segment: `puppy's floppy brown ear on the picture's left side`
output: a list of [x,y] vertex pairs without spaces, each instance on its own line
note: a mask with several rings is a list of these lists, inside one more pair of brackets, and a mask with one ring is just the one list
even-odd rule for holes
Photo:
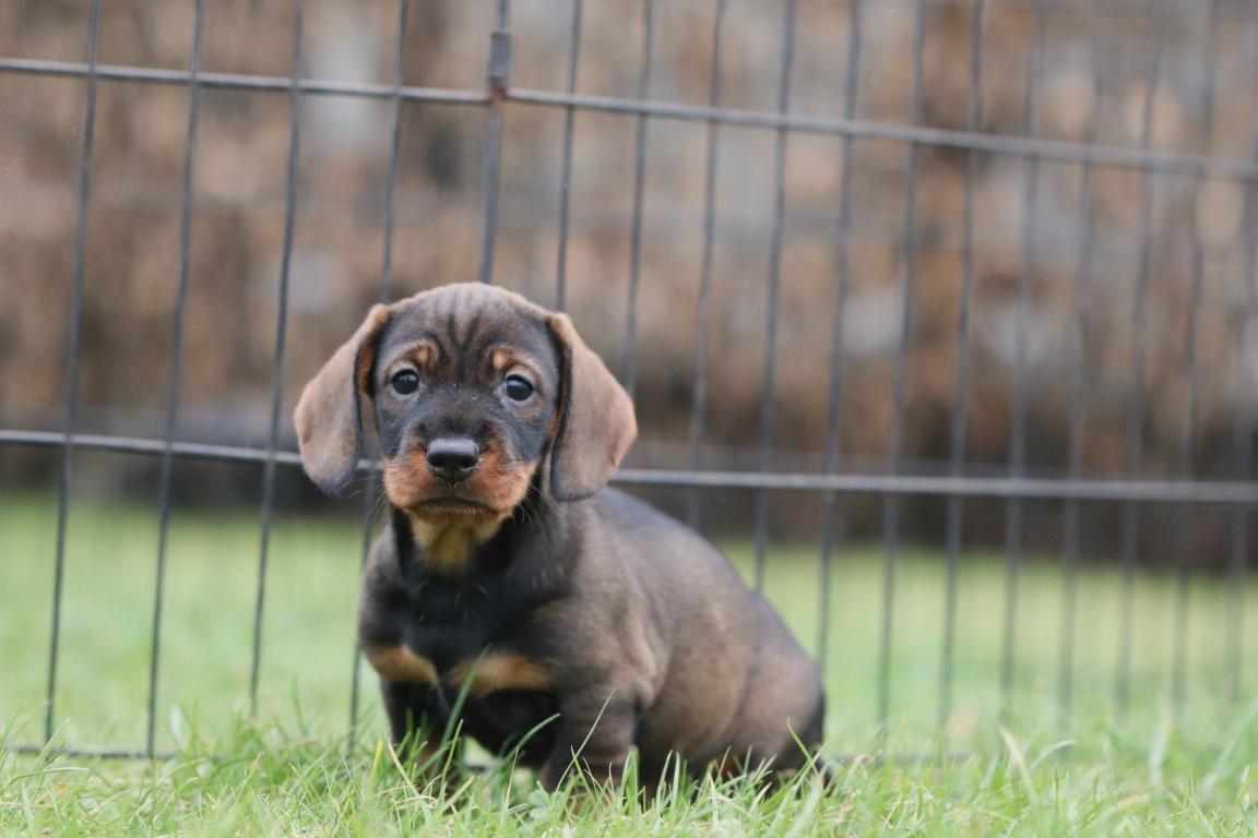
[[[297,402],[293,425],[302,466],[311,480],[330,495],[345,487],[359,465],[362,447],[362,405],[367,400],[367,376],[389,308],[372,305],[353,337],[341,344],[318,371]],[[374,420],[370,420],[374,423]]]

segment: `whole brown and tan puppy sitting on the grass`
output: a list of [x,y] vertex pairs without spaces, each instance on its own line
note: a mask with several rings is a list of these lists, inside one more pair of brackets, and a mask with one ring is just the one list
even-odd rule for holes
[[330,492],[380,437],[392,520],[359,638],[395,740],[458,712],[547,788],[574,764],[614,779],[633,749],[649,780],[669,754],[780,771],[818,746],[821,683],[777,614],[702,538],[604,489],[633,405],[566,315],[473,284],[377,305],[296,425]]

